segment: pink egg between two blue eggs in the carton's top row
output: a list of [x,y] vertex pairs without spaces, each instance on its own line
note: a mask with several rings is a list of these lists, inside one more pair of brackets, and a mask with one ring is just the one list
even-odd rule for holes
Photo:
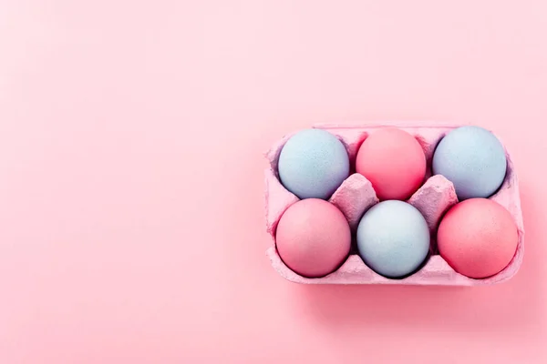
[[426,156],[414,136],[385,127],[368,136],[359,148],[356,171],[372,183],[381,200],[405,200],[426,176]]

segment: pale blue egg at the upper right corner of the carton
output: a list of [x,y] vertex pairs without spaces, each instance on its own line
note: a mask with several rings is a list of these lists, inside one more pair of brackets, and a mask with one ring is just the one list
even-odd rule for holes
[[500,140],[479,126],[449,132],[433,155],[433,174],[454,184],[459,200],[490,197],[501,187],[507,170]]

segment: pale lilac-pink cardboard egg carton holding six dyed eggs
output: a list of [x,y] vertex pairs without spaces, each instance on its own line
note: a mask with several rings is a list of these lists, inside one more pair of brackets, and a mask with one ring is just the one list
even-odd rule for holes
[[[350,158],[351,166],[355,166],[356,154],[366,136],[374,129],[387,125],[377,126],[329,126],[318,125],[315,128],[325,129],[337,136]],[[397,126],[399,127],[399,126]],[[283,187],[277,174],[277,161],[284,143],[293,134],[284,136],[276,142],[265,154],[270,167],[265,170],[265,213],[266,227],[270,235],[272,246],[267,249],[266,255],[270,258],[274,269],[283,277],[296,283],[305,284],[396,284],[396,285],[441,285],[441,286],[480,286],[501,283],[513,277],[521,267],[524,253],[524,227],[522,222],[521,198],[519,183],[513,167],[511,156],[505,149],[507,156],[507,174],[500,190],[490,199],[507,208],[514,218],[518,231],[519,242],[511,263],[500,273],[490,278],[467,278],[457,273],[449,266],[445,259],[439,256],[435,243],[435,235],[439,221],[444,213],[456,203],[456,191],[452,183],[442,176],[431,176],[431,158],[440,139],[450,130],[458,126],[405,126],[399,127],[418,139],[428,160],[428,174],[426,182],[408,199],[408,203],[417,207],[428,222],[431,232],[430,254],[426,263],[413,275],[403,279],[390,279],[378,275],[371,268],[366,267],[363,260],[356,255],[352,248],[350,256],[335,272],[324,278],[304,278],[285,266],[275,248],[275,228],[285,209],[299,200]],[[355,172],[355,171],[353,171]],[[329,199],[346,216],[352,231],[355,233],[360,217],[366,210],[378,202],[372,184],[359,174],[353,173],[338,187]],[[355,236],[355,234],[354,234]],[[352,242],[355,246],[355,242]]]

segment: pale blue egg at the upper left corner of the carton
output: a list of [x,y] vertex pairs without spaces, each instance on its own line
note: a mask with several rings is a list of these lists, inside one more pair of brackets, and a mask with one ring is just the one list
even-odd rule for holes
[[306,129],[287,140],[278,169],[283,186],[297,197],[327,199],[349,176],[349,157],[336,136]]

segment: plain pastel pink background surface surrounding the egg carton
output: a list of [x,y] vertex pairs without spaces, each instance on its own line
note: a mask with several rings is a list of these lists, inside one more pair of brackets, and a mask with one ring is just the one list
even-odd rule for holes
[[[547,5],[0,0],[0,362],[544,363]],[[489,127],[526,253],[490,288],[270,267],[261,153],[317,122]]]

